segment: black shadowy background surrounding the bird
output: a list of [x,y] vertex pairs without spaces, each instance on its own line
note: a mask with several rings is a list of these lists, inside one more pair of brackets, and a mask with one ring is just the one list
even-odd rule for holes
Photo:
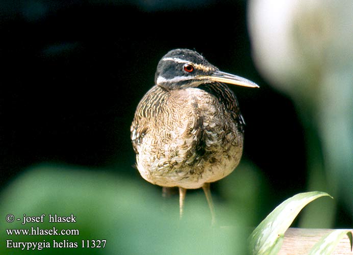
[[120,169],[144,182],[133,168],[130,124],[154,85],[159,59],[182,47],[260,85],[232,87],[247,124],[243,158],[261,169],[268,184],[259,218],[305,191],[302,126],[291,100],[254,67],[246,2],[1,4],[2,189],[41,162]]

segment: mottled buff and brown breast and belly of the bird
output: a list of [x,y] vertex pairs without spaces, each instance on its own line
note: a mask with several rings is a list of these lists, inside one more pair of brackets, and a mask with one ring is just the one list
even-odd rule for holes
[[170,91],[138,147],[137,167],[149,182],[199,188],[239,163],[243,136],[219,98],[198,88]]

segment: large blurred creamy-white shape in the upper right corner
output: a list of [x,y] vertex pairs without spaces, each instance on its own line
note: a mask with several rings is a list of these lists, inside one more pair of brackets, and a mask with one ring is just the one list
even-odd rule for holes
[[284,92],[308,93],[320,71],[352,63],[350,1],[252,0],[248,19],[257,67]]

